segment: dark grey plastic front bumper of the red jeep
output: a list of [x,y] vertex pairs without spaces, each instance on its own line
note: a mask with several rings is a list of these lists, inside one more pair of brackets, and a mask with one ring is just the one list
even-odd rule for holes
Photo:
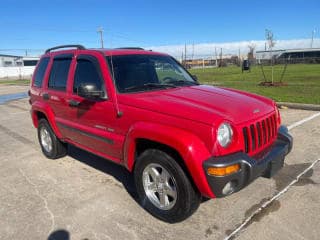
[[[222,157],[211,157],[204,161],[203,168],[207,181],[216,197],[224,197],[237,192],[256,178],[270,178],[283,167],[284,157],[291,151],[292,136],[285,126],[278,131],[277,140],[259,156],[249,157],[243,152],[237,152]],[[209,167],[227,167],[239,164],[240,170],[226,176],[211,176],[207,174]]]

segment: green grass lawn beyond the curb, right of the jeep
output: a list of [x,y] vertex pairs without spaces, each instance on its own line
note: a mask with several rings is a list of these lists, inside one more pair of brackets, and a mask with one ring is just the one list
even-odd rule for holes
[[[274,67],[274,81],[279,81],[283,65]],[[268,81],[271,81],[271,67],[264,67]],[[320,104],[320,65],[291,64],[283,77],[287,86],[266,87],[258,84],[264,81],[261,68],[253,66],[251,72],[241,72],[240,67],[190,69],[203,84],[241,89],[267,96],[278,102]]]

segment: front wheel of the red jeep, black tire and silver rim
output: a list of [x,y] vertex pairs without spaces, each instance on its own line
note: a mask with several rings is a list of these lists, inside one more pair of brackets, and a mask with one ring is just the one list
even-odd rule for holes
[[199,207],[199,192],[176,160],[163,151],[144,151],[137,159],[134,180],[141,206],[165,222],[183,221]]

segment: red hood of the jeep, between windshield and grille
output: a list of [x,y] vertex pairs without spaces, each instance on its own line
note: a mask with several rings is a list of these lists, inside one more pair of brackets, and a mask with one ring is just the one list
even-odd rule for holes
[[206,124],[221,119],[240,124],[274,111],[268,98],[207,85],[122,94],[119,103]]

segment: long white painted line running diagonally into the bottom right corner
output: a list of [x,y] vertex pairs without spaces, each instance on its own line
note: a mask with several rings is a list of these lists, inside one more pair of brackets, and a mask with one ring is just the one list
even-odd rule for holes
[[[268,208],[274,208],[277,207],[278,199],[285,194],[293,185],[295,185],[301,177],[303,177],[305,174],[307,174],[318,162],[320,162],[320,159],[315,160],[313,163],[309,165],[304,171],[302,171],[292,182],[290,182],[284,189],[282,189],[280,192],[278,192],[276,195],[274,195],[272,198],[270,198],[268,201],[265,201],[261,204],[261,206],[255,210],[250,216],[248,216],[240,226],[238,226],[233,231],[228,231],[228,236],[224,240],[230,240],[237,237],[241,231],[243,231],[247,226],[249,226],[252,222],[257,221],[262,215],[265,215],[268,213]],[[271,210],[272,211],[272,210]],[[269,211],[269,212],[271,212]]]

